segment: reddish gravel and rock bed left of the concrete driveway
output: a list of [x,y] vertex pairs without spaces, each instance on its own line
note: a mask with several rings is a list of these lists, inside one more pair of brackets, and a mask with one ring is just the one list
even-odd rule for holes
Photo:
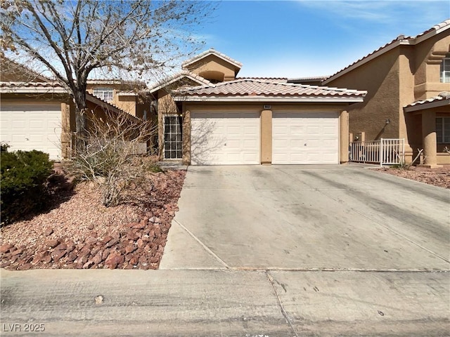
[[186,171],[148,173],[119,206],[94,183],[56,189],[52,209],[1,229],[1,267],[157,269]]

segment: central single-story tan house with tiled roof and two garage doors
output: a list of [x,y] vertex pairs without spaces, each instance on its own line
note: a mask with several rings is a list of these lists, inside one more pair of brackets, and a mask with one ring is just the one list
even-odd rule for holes
[[186,164],[348,161],[349,106],[365,91],[236,78],[242,64],[214,49],[150,88],[161,159]]

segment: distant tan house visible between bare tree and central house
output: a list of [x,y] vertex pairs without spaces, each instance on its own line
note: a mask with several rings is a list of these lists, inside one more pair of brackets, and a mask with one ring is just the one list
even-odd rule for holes
[[146,84],[120,79],[89,79],[86,91],[140,119],[150,119],[150,100],[142,93]]

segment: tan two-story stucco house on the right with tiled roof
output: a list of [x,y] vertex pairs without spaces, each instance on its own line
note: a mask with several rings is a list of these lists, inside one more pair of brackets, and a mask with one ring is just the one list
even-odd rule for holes
[[368,92],[349,107],[352,140],[404,138],[406,161],[450,164],[450,20],[399,36],[322,82]]

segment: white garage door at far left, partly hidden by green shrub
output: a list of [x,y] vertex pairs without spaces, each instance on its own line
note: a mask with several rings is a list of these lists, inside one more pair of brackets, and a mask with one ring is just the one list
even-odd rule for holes
[[8,104],[0,107],[0,140],[10,150],[40,150],[60,159],[61,105]]

